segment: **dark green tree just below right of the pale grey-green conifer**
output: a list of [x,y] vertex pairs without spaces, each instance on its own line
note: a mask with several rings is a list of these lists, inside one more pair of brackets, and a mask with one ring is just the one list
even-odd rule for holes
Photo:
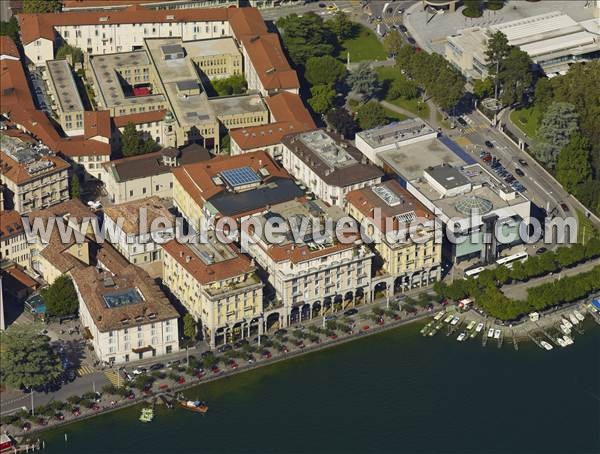
[[591,176],[590,144],[580,133],[575,133],[558,155],[556,179],[565,190],[575,193],[578,186],[589,180]]

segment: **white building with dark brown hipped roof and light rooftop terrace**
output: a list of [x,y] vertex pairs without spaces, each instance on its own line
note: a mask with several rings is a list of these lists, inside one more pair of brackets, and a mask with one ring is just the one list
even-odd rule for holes
[[282,144],[285,169],[330,205],[342,207],[348,192],[381,182],[383,172],[332,132],[292,134]]

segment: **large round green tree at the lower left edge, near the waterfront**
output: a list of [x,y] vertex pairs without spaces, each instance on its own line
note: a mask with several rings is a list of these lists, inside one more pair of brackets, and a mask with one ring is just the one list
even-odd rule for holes
[[11,325],[0,332],[0,381],[15,388],[55,382],[63,373],[50,339],[37,325]]

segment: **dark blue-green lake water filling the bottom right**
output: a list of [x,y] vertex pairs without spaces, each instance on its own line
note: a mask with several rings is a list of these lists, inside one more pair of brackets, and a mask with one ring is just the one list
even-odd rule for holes
[[44,434],[46,452],[600,452],[598,326],[552,352],[421,326],[188,391],[206,416],[159,408],[145,425],[135,407]]

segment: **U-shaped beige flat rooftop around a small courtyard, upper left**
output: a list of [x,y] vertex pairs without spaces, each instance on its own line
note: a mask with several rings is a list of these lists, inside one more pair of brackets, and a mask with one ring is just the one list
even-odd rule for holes
[[125,96],[123,87],[119,81],[118,72],[125,67],[150,66],[150,59],[145,50],[134,52],[123,52],[118,54],[104,54],[90,56],[90,64],[98,81],[98,91],[104,104],[108,108],[123,105],[142,105],[146,103],[165,103],[162,94],[151,94],[148,96]]

